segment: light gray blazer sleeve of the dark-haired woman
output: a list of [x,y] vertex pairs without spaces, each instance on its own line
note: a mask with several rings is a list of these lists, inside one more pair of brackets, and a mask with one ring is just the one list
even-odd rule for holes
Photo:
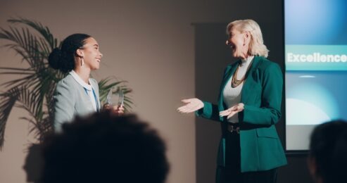
[[61,80],[56,86],[54,98],[54,131],[61,132],[63,122],[70,122],[74,117],[75,96],[72,92],[72,84]]

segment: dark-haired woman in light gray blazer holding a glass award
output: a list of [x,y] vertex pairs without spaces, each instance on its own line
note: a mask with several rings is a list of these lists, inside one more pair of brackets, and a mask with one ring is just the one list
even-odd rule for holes
[[[69,72],[59,81],[54,94],[54,130],[61,131],[63,122],[70,122],[76,115],[100,111],[99,86],[89,78],[92,70],[100,67],[102,53],[96,40],[87,34],[66,37],[61,49],[53,49],[49,55],[51,68]],[[123,113],[122,106],[113,109]]]

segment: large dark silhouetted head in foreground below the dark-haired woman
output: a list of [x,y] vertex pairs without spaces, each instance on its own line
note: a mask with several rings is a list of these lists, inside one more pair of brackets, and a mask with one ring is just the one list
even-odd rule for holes
[[42,181],[165,182],[165,144],[135,115],[95,113],[65,123],[44,142]]

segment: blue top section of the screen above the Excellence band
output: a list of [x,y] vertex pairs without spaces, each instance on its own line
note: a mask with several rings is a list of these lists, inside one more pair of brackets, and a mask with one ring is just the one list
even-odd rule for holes
[[287,0],[286,44],[347,44],[346,0]]

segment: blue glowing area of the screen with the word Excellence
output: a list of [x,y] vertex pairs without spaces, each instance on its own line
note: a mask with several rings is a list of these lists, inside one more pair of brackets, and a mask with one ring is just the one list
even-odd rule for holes
[[284,21],[286,125],[347,120],[347,0],[285,0]]

